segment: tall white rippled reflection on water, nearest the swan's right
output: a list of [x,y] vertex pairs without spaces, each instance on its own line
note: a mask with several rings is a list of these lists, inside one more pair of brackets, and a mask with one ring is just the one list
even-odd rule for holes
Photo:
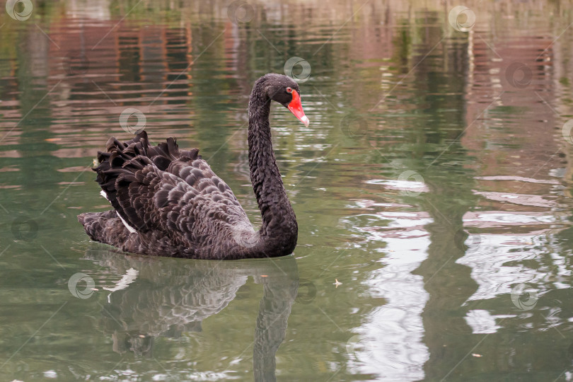
[[371,311],[364,323],[354,329],[364,348],[354,349],[356,357],[350,359],[349,368],[384,376],[384,381],[417,381],[424,378],[424,363],[429,359],[422,341],[421,317],[429,294],[422,276],[412,271],[427,258],[430,241],[423,227],[432,219],[411,212],[368,216],[384,221],[386,226],[373,224],[355,229],[369,243],[384,242],[386,248],[379,249],[385,253],[380,260],[383,267],[372,272],[365,284],[372,296],[385,299],[386,303]]

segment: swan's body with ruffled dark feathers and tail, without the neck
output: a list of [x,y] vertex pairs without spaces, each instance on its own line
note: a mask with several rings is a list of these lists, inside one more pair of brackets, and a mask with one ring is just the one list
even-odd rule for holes
[[[98,152],[97,182],[113,211],[79,215],[93,240],[134,253],[240,258],[236,238],[254,234],[231,188],[173,138],[157,146],[146,132]],[[248,249],[248,248],[246,248]]]

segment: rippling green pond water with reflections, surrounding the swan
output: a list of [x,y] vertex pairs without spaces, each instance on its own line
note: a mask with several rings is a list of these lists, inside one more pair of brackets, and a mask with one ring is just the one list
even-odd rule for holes
[[[440,1],[5,4],[2,381],[573,379],[569,1],[470,1],[468,31]],[[248,94],[291,57],[311,125],[271,124],[293,256],[88,240],[76,215],[109,208],[89,168],[132,137],[126,108],[199,147],[258,224]]]

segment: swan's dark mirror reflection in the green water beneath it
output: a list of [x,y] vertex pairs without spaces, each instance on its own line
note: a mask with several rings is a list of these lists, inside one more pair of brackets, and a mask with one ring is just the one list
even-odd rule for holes
[[[284,340],[296,299],[299,272],[293,256],[265,260],[180,260],[91,249],[86,259],[117,275],[103,304],[102,325],[113,351],[153,357],[156,337],[201,331],[204,319],[222,311],[252,276],[263,285],[255,326],[256,381],[274,381],[274,355]],[[100,272],[101,273],[101,272]],[[245,344],[245,346],[248,344]],[[238,355],[238,354],[237,354]]]

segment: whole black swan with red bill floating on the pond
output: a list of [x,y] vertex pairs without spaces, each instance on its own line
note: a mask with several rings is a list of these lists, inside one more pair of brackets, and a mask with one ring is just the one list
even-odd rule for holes
[[126,252],[236,260],[289,255],[298,226],[272,150],[270,101],[289,108],[308,126],[299,85],[266,74],[250,94],[250,180],[262,226],[255,231],[231,188],[209,168],[198,149],[179,150],[175,139],[151,146],[146,132],[131,141],[114,137],[98,151],[97,182],[114,208],[78,220],[94,241]]

